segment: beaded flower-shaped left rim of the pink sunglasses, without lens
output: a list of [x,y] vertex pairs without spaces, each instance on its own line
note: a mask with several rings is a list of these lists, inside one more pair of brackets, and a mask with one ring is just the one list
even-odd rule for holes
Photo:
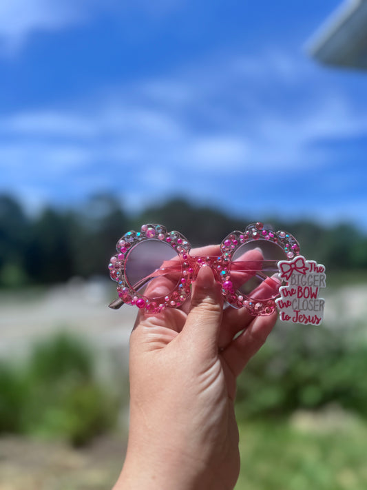
[[[174,291],[162,298],[146,298],[136,292],[132,285],[129,284],[126,274],[125,265],[129,252],[142,241],[158,240],[167,243],[180,258],[181,278]],[[161,312],[165,307],[179,307],[185,302],[190,294],[192,268],[189,265],[190,244],[185,236],[179,232],[167,232],[162,225],[143,225],[140,232],[128,232],[120,238],[116,245],[117,254],[112,256],[109,261],[109,275],[117,283],[118,296],[128,305],[136,305],[140,309],[151,314]]]

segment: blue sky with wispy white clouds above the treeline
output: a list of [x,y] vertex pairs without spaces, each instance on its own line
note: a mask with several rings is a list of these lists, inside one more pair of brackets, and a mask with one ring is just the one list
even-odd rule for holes
[[367,230],[367,72],[305,50],[339,5],[2,0],[0,192]]

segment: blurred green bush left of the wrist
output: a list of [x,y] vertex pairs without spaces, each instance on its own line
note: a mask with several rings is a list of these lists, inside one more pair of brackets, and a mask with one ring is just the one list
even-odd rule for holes
[[121,404],[112,385],[98,378],[85,340],[65,333],[35,345],[22,363],[3,360],[0,394],[0,433],[76,447],[116,427]]

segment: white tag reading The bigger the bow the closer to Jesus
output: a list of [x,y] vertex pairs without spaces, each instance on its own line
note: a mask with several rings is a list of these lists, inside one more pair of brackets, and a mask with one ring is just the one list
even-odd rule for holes
[[280,319],[304,325],[322,323],[325,300],[319,298],[319,289],[326,287],[324,265],[298,255],[293,261],[280,261],[278,269],[280,278],[287,281],[275,300]]

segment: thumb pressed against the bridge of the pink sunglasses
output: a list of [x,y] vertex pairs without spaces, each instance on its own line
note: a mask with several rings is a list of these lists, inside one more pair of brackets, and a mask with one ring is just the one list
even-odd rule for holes
[[183,336],[200,349],[218,352],[218,336],[222,323],[223,298],[220,285],[207,265],[201,267],[193,283],[191,311],[187,316]]

